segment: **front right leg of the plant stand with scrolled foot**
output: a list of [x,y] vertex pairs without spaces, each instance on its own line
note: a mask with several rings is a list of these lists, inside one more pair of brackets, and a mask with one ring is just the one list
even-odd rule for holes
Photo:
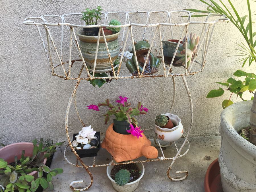
[[187,136],[185,137],[185,140],[183,142],[183,144],[181,145],[179,151],[177,152],[176,156],[174,157],[171,165],[169,166],[168,170],[167,170],[167,176],[169,177],[169,179],[171,179],[172,181],[181,181],[183,179],[185,179],[187,176],[188,176],[188,172],[187,171],[176,171],[175,173],[176,174],[180,174],[180,173],[186,173],[186,175],[184,177],[181,177],[181,178],[172,178],[170,176],[170,170],[172,169],[172,166],[176,160],[176,158],[179,156],[182,148],[184,147],[185,143],[188,142],[188,138],[189,138],[189,134],[191,132],[191,128],[192,128],[192,124],[193,124],[193,103],[192,103],[192,99],[191,99],[191,94],[190,94],[190,91],[189,91],[189,88],[188,88],[188,85],[187,85],[187,81],[185,79],[185,76],[181,76],[182,77],[182,80],[183,80],[183,83],[184,83],[184,86],[187,90],[187,95],[188,95],[188,98],[189,98],[189,104],[190,104],[190,114],[191,114],[191,121],[190,121],[190,125],[189,125],[189,129],[188,129],[188,132],[187,132]]

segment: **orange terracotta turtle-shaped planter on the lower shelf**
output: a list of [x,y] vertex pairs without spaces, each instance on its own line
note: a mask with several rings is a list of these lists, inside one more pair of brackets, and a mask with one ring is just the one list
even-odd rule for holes
[[101,146],[105,148],[113,156],[114,160],[119,163],[129,161],[145,156],[148,159],[158,157],[158,151],[151,146],[151,141],[143,137],[139,139],[133,135],[122,135],[113,130],[113,123],[106,131],[105,139]]

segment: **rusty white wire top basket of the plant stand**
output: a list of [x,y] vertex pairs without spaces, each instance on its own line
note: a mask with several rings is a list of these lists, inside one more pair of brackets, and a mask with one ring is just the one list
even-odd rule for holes
[[[205,17],[193,17],[196,13],[189,11],[134,11],[134,12],[109,12],[104,13],[102,24],[88,26],[82,23],[79,18],[81,13],[70,13],[64,15],[42,15],[38,17],[25,18],[23,24],[36,26],[42,41],[44,52],[53,76],[63,79],[73,80],[93,80],[93,79],[121,79],[121,78],[142,78],[142,77],[175,77],[194,75],[203,71],[213,36],[214,27],[218,22],[229,21],[224,15],[209,14]],[[118,18],[121,21],[119,26],[108,25],[110,18]],[[202,20],[203,19],[203,20]],[[80,22],[80,23],[79,23]],[[76,24],[73,24],[76,23]],[[94,36],[96,50],[93,65],[86,64],[86,58],[83,57],[81,47],[78,41],[78,33],[82,28],[98,27],[98,36]],[[120,61],[114,61],[110,54],[104,27],[119,28],[119,58]],[[42,30],[41,29],[45,29]],[[163,32],[162,32],[163,31]],[[197,32],[200,36],[199,44],[193,55],[189,67],[187,66],[187,36],[191,32]],[[100,34],[102,34],[100,36]],[[135,52],[135,37],[142,40],[148,38],[150,47],[144,63],[139,63]],[[179,44],[185,37],[185,66],[181,68],[173,67],[174,59]],[[141,38],[141,39],[140,39]],[[177,40],[177,47],[171,62],[166,64],[163,42],[169,39]],[[47,44],[45,43],[47,42]],[[106,55],[109,59],[109,69],[97,69],[97,53],[99,44],[105,44]],[[128,69],[123,66],[125,54],[129,47],[133,48],[135,55],[135,64],[138,69],[137,75],[129,73]],[[53,51],[52,51],[53,49]],[[75,50],[75,51],[73,51]],[[153,53],[155,57],[160,58],[161,64],[158,72],[154,74],[145,74],[146,63],[149,54]],[[196,60],[197,59],[197,60]],[[139,65],[143,67],[139,71]],[[84,70],[85,69],[85,70]],[[106,73],[106,77],[95,76],[95,73]]]

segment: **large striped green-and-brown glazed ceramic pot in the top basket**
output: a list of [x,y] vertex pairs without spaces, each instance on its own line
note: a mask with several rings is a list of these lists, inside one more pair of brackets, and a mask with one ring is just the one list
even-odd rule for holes
[[[119,33],[120,32],[105,36],[112,62],[114,62],[117,59],[117,56],[119,54],[119,43],[118,43]],[[84,61],[86,65],[92,67],[93,69],[98,36],[86,36],[84,35],[83,30],[80,30],[77,33],[77,35],[80,40],[79,46],[80,46],[82,55],[84,57]],[[95,69],[96,70],[111,69],[111,62],[108,57],[108,52],[107,52],[107,48],[106,48],[103,36],[100,36],[100,43],[98,48],[98,55],[97,55]]]

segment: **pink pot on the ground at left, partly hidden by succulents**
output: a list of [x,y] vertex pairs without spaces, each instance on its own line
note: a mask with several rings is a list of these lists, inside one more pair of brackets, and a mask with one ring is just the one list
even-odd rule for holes
[[[32,156],[33,154],[33,143],[13,143],[10,145],[7,145],[3,148],[0,148],[0,158],[4,159],[5,161],[9,163],[14,161],[14,156],[17,156],[18,159],[21,158],[21,152],[22,150],[25,150],[24,156]],[[44,158],[44,165],[46,164],[47,158]],[[34,177],[38,177],[37,171],[31,172],[29,175],[32,175]]]

